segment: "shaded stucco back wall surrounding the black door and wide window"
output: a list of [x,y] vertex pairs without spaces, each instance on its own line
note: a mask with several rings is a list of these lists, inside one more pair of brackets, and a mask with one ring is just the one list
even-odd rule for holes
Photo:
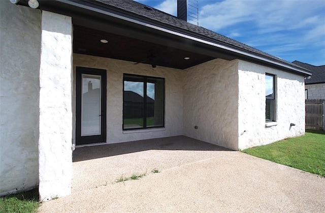
[[[150,138],[177,136],[183,134],[183,87],[182,71],[172,68],[125,62],[82,54],[74,54],[74,76],[76,67],[107,70],[107,143],[118,143]],[[123,73],[165,78],[165,129],[122,131]],[[76,83],[74,81],[74,88]],[[74,93],[74,140],[75,140],[75,100]],[[158,130],[158,131],[156,131]],[[130,133],[132,132],[132,133]]]

